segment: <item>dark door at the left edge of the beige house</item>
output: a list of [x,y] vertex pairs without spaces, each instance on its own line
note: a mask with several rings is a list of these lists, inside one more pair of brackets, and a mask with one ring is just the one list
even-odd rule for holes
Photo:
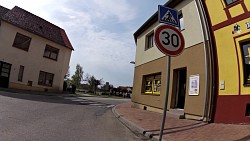
[[0,61],[0,87],[9,87],[11,64]]

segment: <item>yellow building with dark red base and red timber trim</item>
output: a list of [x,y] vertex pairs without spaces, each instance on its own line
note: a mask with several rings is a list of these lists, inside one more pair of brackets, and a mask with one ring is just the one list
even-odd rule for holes
[[214,121],[250,123],[250,1],[204,0],[217,66]]

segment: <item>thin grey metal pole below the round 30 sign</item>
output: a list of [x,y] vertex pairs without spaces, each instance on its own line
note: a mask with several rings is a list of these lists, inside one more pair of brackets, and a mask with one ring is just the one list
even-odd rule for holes
[[169,95],[169,81],[170,81],[170,63],[171,63],[171,56],[168,56],[168,65],[167,65],[167,82],[166,82],[166,97],[165,97],[165,104],[163,109],[163,115],[162,115],[162,124],[161,124],[161,130],[160,130],[160,138],[159,141],[162,140],[162,134],[164,130],[164,125],[166,121],[166,114],[167,114],[167,106],[168,106],[168,95]]

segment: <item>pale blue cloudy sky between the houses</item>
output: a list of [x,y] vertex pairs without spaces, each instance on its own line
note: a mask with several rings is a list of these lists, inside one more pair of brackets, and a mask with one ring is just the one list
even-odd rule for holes
[[132,86],[136,45],[134,32],[167,0],[0,0],[19,6],[63,28],[74,51],[70,74],[80,64],[84,76],[118,86]]

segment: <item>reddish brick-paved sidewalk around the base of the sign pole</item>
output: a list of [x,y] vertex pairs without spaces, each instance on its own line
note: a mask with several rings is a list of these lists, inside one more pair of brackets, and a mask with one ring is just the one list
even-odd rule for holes
[[[132,102],[113,108],[116,117],[132,130],[159,139],[162,114],[131,108]],[[250,124],[217,124],[167,116],[163,139],[167,141],[250,141]]]

